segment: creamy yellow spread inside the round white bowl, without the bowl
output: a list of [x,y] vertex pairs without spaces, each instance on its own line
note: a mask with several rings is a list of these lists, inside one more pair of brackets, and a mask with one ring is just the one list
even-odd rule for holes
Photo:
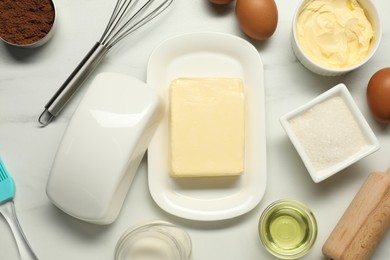
[[374,38],[372,25],[357,0],[311,0],[299,13],[296,29],[305,53],[333,68],[362,61]]

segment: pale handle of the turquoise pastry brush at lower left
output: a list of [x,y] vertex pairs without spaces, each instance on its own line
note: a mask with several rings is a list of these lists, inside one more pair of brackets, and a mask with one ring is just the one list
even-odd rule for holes
[[14,234],[14,238],[19,250],[20,259],[38,260],[38,257],[33,252],[19,224],[13,201],[10,200],[4,204],[1,204],[0,213],[3,214],[4,218],[7,220],[8,225],[12,230],[12,233]]

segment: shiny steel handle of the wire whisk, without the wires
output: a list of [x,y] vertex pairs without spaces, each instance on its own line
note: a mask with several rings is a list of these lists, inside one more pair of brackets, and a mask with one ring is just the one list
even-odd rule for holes
[[62,111],[91,72],[99,65],[107,52],[108,48],[103,46],[100,42],[97,42],[92,47],[76,69],[45,105],[45,110],[38,119],[41,126],[48,125]]

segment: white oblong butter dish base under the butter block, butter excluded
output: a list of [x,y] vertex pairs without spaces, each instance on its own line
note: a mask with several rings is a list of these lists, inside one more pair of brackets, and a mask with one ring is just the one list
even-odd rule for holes
[[169,109],[169,86],[179,77],[241,78],[245,85],[245,171],[240,177],[173,178],[169,174],[168,113],[148,148],[148,181],[155,202],[192,220],[233,218],[253,209],[266,188],[263,64],[247,41],[220,33],[192,33],[163,42],[152,53],[147,83]]

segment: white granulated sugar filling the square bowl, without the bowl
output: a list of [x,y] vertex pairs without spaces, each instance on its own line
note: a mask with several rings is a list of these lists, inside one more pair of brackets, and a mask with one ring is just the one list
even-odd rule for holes
[[368,145],[340,96],[313,106],[289,123],[317,171],[348,159]]

